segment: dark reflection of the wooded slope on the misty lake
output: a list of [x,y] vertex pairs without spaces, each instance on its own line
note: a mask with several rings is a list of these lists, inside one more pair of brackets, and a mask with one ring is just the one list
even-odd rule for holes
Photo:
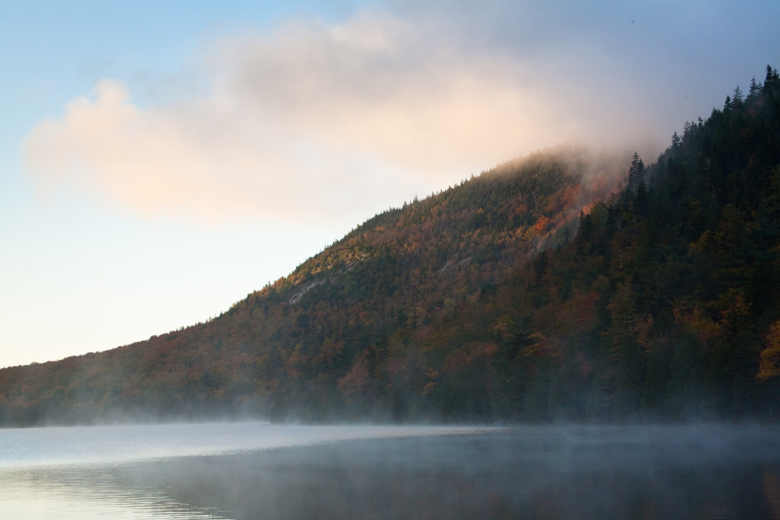
[[776,440],[677,433],[526,428],[29,473],[152,518],[780,518]]

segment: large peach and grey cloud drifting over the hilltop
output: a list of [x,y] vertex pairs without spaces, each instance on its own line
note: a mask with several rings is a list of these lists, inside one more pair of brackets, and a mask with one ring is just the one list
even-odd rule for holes
[[605,33],[564,9],[410,5],[215,42],[207,93],[180,101],[101,80],[35,126],[27,170],[147,216],[354,223],[519,154],[658,136],[655,100],[610,50],[630,13]]

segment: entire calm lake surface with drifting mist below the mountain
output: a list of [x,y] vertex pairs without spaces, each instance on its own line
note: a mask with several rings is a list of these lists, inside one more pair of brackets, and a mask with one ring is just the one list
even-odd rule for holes
[[780,518],[780,427],[0,430],[0,517]]

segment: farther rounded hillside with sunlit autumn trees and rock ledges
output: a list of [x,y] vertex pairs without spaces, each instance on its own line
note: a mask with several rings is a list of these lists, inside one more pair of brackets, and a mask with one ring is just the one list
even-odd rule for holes
[[443,328],[573,235],[580,208],[614,188],[614,168],[537,154],[378,214],[208,323],[0,370],[0,420],[427,414],[428,371],[485,339],[472,331],[442,348],[457,335]]

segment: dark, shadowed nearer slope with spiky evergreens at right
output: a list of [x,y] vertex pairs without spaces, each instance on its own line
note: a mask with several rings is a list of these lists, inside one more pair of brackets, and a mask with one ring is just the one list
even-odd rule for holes
[[777,418],[778,104],[768,67],[518,272],[496,344],[521,418]]

